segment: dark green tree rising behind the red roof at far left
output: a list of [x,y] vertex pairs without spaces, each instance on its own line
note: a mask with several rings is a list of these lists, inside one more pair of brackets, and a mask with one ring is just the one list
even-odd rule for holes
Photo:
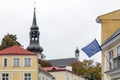
[[8,47],[13,46],[13,45],[19,45],[20,46],[21,44],[17,41],[16,35],[7,34],[2,39],[2,42],[1,42],[1,45],[0,45],[0,50],[8,48]]

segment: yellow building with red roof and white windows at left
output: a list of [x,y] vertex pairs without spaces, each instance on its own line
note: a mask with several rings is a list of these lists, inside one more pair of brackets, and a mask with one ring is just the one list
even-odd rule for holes
[[38,57],[20,46],[0,51],[0,80],[38,80]]

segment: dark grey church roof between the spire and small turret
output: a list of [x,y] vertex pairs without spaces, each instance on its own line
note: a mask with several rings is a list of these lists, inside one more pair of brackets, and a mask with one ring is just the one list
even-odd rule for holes
[[53,59],[48,61],[52,64],[52,66],[66,67],[78,60],[75,58],[64,58],[64,59]]

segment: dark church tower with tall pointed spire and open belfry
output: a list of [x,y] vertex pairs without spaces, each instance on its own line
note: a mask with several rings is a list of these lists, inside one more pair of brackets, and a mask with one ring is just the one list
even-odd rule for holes
[[45,56],[42,54],[43,48],[39,44],[39,27],[37,26],[37,21],[36,21],[36,8],[34,8],[34,13],[33,13],[33,23],[30,28],[30,44],[27,47],[27,50],[32,51],[38,55],[39,59],[44,59]]

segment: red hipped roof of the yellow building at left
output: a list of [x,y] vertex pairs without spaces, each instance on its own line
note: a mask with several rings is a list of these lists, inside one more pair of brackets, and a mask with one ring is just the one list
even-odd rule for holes
[[21,46],[14,45],[12,47],[0,51],[0,55],[36,55]]

